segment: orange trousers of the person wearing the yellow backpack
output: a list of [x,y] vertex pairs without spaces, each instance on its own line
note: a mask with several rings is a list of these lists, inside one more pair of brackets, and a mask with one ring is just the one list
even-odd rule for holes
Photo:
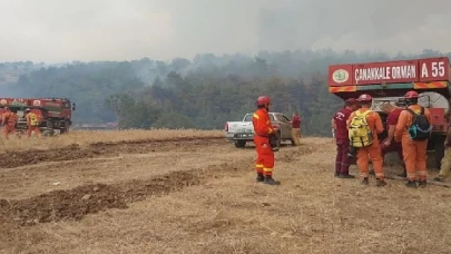
[[362,178],[369,177],[369,167],[370,167],[370,158],[373,163],[374,173],[376,178],[383,179],[384,172],[383,172],[383,159],[381,154],[381,147],[378,140],[374,140],[371,146],[361,147],[357,149],[357,167],[360,170],[360,175]]

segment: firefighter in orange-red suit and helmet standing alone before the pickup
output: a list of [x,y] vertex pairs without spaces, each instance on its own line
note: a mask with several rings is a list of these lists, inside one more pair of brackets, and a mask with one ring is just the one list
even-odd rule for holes
[[275,134],[269,119],[271,99],[267,96],[261,96],[257,99],[258,109],[252,117],[254,126],[254,143],[257,152],[255,168],[257,172],[257,182],[269,185],[280,185],[281,182],[273,179],[274,152],[269,145],[269,135]]

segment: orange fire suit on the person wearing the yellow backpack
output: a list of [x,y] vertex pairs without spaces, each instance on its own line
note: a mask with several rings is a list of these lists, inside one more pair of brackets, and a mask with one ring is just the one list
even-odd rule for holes
[[[366,110],[370,110],[367,107],[362,107],[357,109],[361,113],[364,113]],[[353,111],[347,119],[347,128],[350,127],[352,118],[355,116],[355,111]],[[371,144],[367,147],[359,147],[357,149],[357,167],[360,169],[360,175],[362,178],[369,177],[369,167],[370,167],[370,160],[369,158],[371,157],[371,162],[373,163],[374,167],[374,173],[378,179],[383,179],[384,178],[384,172],[383,172],[383,159],[382,159],[382,154],[381,154],[381,148],[379,144],[379,138],[378,134],[381,134],[384,130],[384,127],[382,125],[382,119],[381,116],[379,116],[378,113],[372,111],[366,115],[366,121],[370,126],[370,129],[373,134],[373,144]]]

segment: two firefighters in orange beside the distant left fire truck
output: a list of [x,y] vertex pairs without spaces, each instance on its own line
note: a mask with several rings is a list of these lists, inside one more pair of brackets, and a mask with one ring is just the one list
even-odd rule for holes
[[[10,134],[16,134],[20,138],[20,133],[17,130],[18,115],[9,107],[4,107],[4,113],[1,114],[1,129],[4,139],[9,139]],[[40,136],[40,114],[33,113],[30,108],[26,109],[27,119],[27,136],[31,137],[35,133],[37,137]]]

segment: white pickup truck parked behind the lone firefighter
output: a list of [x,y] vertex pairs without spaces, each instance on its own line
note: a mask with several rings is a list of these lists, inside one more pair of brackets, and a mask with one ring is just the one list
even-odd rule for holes
[[[243,148],[246,143],[254,141],[254,127],[252,125],[252,116],[249,113],[243,117],[242,121],[227,121],[225,124],[226,138],[235,144],[235,147]],[[290,140],[294,144],[292,137],[292,123],[288,117],[281,113],[269,113],[271,124],[277,126],[277,148],[282,141]]]

